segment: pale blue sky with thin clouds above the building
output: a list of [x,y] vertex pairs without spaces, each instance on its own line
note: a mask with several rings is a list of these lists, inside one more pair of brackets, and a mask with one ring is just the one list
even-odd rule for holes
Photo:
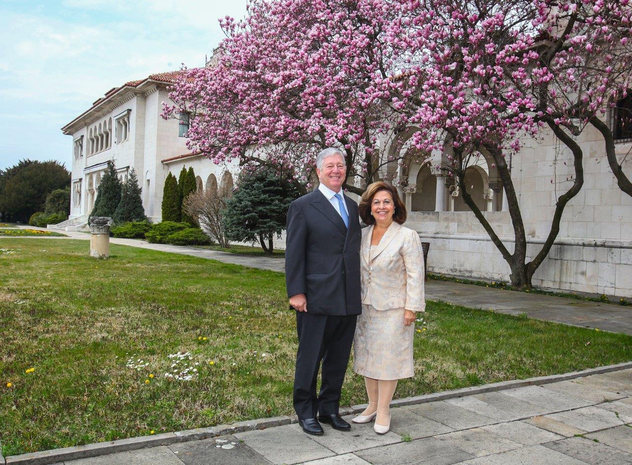
[[0,169],[72,167],[61,127],[112,87],[204,66],[246,0],[0,0]]

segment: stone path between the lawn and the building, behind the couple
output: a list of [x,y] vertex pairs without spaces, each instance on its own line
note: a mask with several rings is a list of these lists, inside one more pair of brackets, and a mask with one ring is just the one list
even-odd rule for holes
[[[75,239],[88,240],[90,238],[89,234],[80,232],[66,232],[65,234]],[[112,244],[131,245],[142,249],[161,250],[162,252],[190,255],[253,268],[284,271],[284,261],[280,258],[240,256],[196,247],[149,244],[149,242],[137,239],[111,238],[110,241]],[[425,291],[426,298],[430,300],[442,300],[476,309],[491,309],[494,312],[504,314],[526,313],[528,317],[540,320],[632,334],[632,307],[506,291],[450,281],[427,281]]]

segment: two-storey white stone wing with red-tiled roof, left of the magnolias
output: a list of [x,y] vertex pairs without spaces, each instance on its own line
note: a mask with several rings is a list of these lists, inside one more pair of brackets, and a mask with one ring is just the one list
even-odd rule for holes
[[192,166],[198,185],[233,182],[226,168],[186,148],[186,116],[180,121],[162,119],[162,102],[170,102],[167,87],[178,73],[152,74],[112,88],[61,129],[73,138],[70,218],[62,227],[85,225],[108,160],[116,163],[121,180],[127,179],[131,168],[136,170],[151,221],[161,220],[162,189],[169,171],[177,177],[183,166]]

